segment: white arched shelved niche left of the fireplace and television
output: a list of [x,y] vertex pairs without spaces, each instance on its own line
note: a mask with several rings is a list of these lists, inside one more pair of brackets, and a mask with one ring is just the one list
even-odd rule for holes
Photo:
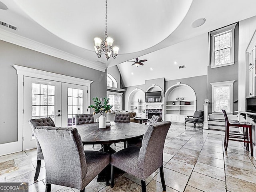
[[145,92],[142,89],[136,88],[130,92],[128,95],[128,110],[137,113],[142,113],[145,110]]

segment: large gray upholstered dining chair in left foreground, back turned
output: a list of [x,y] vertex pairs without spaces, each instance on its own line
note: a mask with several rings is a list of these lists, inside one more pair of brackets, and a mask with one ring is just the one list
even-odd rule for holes
[[[46,192],[51,191],[51,184],[84,192],[86,185],[109,165],[110,154],[84,151],[76,128],[37,126],[34,134],[44,153]],[[106,177],[109,185],[109,173]]]

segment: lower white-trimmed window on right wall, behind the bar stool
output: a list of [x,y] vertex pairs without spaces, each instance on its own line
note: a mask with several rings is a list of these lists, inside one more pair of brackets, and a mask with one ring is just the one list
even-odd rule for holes
[[233,113],[233,81],[216,82],[212,85],[212,113]]

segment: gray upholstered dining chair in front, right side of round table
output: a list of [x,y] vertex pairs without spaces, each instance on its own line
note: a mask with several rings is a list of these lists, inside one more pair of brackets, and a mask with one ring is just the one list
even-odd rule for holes
[[160,168],[162,187],[166,191],[163,150],[170,125],[170,121],[152,123],[143,136],[141,147],[130,146],[111,155],[111,187],[114,187],[113,166],[140,178],[142,192],[146,192],[146,178]]

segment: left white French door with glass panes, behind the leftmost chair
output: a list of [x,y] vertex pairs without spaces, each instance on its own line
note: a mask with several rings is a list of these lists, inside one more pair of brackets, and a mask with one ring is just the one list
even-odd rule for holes
[[61,82],[24,77],[23,86],[23,150],[36,147],[32,118],[51,117],[55,126],[61,126]]

